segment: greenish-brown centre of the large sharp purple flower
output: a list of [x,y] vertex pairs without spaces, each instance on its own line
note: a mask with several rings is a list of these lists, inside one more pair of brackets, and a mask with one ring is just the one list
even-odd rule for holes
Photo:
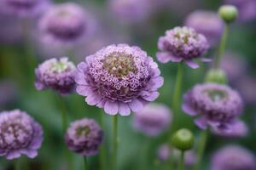
[[115,77],[125,77],[130,72],[136,73],[137,67],[131,55],[113,53],[103,61],[103,68]]

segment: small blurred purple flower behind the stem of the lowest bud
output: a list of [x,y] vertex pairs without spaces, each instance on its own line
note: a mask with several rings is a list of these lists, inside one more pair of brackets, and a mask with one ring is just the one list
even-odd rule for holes
[[[172,159],[178,162],[180,157],[180,151],[175,148],[171,148],[168,144],[161,144],[157,150],[157,156],[160,161],[169,161],[171,159],[170,156],[172,156]],[[192,167],[193,165],[195,165],[196,160],[197,156],[194,150],[188,150],[185,152],[186,167]]]

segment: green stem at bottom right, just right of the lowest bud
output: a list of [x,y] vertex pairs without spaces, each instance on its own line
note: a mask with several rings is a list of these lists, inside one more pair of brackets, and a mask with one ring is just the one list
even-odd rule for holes
[[208,130],[204,130],[201,132],[201,138],[199,141],[199,148],[197,153],[198,159],[197,159],[197,162],[195,163],[194,170],[200,169],[201,159],[202,159],[202,156],[204,155],[204,151],[207,145],[207,136],[208,136]]

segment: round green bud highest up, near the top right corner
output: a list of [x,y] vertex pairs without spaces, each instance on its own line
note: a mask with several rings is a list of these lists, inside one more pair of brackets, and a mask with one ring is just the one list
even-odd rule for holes
[[218,9],[218,14],[226,23],[233,22],[236,20],[238,11],[233,5],[223,5]]

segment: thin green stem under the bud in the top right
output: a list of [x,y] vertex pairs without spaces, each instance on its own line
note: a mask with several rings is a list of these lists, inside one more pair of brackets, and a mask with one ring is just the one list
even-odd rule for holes
[[215,67],[218,68],[221,62],[222,55],[224,54],[224,50],[226,48],[226,42],[230,31],[230,25],[225,24],[224,26],[224,32],[222,34],[219,46],[218,46],[218,56],[215,60]]

